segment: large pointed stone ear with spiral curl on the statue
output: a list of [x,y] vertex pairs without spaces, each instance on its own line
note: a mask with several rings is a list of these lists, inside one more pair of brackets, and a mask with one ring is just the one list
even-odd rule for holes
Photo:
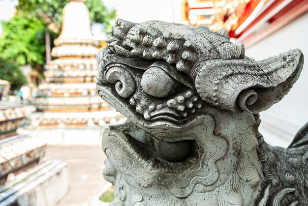
[[261,61],[208,60],[191,73],[201,98],[218,108],[257,114],[280,101],[298,79],[304,56],[299,49]]

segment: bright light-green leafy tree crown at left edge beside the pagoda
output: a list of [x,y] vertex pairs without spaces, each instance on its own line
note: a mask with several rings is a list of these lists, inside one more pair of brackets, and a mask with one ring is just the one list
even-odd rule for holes
[[15,16],[3,23],[0,56],[19,65],[31,64],[43,71],[45,61],[45,26],[37,18]]

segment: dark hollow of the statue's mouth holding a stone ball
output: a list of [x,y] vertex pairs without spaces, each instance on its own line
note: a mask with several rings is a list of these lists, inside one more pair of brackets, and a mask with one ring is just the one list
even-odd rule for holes
[[[117,141],[149,171],[181,174],[196,167],[197,161],[200,160],[201,150],[192,139],[177,138],[173,139],[173,142],[164,142],[131,122],[110,126],[109,132],[111,135],[113,132],[122,133],[115,136]],[[109,148],[104,146],[104,143],[103,147]],[[111,174],[105,171],[104,175]]]

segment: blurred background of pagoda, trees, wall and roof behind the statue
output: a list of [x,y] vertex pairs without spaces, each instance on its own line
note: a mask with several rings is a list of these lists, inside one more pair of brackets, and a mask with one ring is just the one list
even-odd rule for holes
[[[97,51],[116,18],[227,29],[260,60],[308,56],[307,0],[0,0],[0,206],[101,206],[103,129],[125,118],[95,89]],[[307,61],[308,62],[308,61]],[[262,112],[260,132],[287,147],[308,120],[308,66]]]

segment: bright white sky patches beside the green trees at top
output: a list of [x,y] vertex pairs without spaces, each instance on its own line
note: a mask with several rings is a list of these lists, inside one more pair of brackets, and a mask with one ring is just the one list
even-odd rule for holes
[[[116,0],[102,0],[103,3],[109,8],[114,9]],[[7,21],[13,15],[15,6],[18,0],[0,0],[0,21]],[[2,27],[0,25],[0,33],[2,33]]]

